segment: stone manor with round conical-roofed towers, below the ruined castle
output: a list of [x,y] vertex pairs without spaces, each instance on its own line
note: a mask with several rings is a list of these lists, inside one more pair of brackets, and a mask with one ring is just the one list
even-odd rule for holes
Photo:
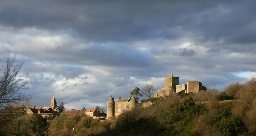
[[132,98],[121,98],[115,102],[115,98],[110,96],[107,102],[107,118],[108,120],[118,117],[126,110],[131,110],[138,102],[135,100],[134,95]]

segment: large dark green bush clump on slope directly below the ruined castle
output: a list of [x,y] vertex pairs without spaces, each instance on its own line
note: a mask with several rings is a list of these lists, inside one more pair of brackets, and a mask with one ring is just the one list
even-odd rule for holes
[[171,105],[165,110],[166,119],[160,123],[164,135],[198,135],[192,128],[192,120],[206,113],[202,104],[195,104],[192,98]]

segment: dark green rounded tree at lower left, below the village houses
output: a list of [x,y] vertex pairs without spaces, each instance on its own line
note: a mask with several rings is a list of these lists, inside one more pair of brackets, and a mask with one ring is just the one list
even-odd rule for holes
[[49,124],[46,121],[46,118],[43,118],[39,114],[33,114],[29,121],[29,128],[36,135],[45,135],[45,132],[48,132]]

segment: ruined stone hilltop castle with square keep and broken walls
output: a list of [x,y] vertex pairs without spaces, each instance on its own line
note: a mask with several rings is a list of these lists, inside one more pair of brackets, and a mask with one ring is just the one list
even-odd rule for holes
[[164,97],[170,95],[171,92],[183,94],[183,93],[196,93],[206,90],[206,87],[202,86],[199,81],[188,81],[187,84],[179,85],[179,77],[174,77],[171,73],[170,77],[164,77],[164,88],[156,91],[154,97]]

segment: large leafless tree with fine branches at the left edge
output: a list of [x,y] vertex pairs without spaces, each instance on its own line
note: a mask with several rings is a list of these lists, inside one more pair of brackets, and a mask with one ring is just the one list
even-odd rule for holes
[[[22,77],[20,68],[22,62],[15,62],[15,56],[13,59],[6,58],[6,64],[0,68],[0,111],[4,108],[11,106],[14,103],[28,100],[29,97],[20,92],[20,90],[27,90],[26,77]],[[2,63],[2,61],[0,62]]]

